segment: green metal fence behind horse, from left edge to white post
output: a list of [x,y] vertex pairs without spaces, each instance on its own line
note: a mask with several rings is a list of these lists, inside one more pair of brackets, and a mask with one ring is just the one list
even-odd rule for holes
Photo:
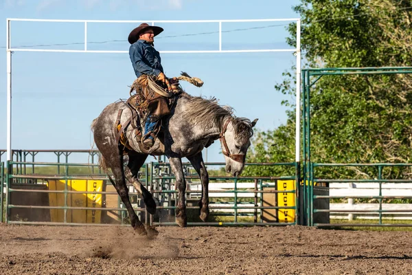
[[[58,162],[36,162],[38,153],[54,154]],[[87,153],[97,162],[98,151],[16,151],[18,161],[6,162],[6,223],[19,224],[126,224],[128,214],[117,192],[98,164],[70,163],[71,153]],[[29,156],[29,157],[27,157]],[[63,157],[62,157],[63,156]],[[21,159],[30,159],[30,162]],[[224,163],[206,164],[213,166]],[[247,166],[288,166],[296,163],[247,164]],[[3,166],[2,166],[3,167]],[[299,223],[295,182],[297,175],[285,177],[209,176],[210,218],[198,219],[197,201],[201,198],[201,181],[190,164],[184,164],[187,181],[188,225],[294,225]],[[292,173],[295,174],[295,173]],[[130,200],[139,219],[150,225],[175,225],[177,191],[170,164],[144,164],[139,180],[157,201],[157,214],[146,212],[135,188],[129,185]],[[227,188],[230,187],[230,188]]]

